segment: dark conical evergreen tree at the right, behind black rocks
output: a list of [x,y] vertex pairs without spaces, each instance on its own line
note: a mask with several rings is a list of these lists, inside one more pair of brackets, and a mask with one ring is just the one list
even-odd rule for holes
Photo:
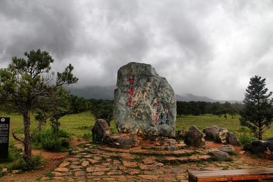
[[273,118],[272,92],[267,93],[265,78],[256,75],[250,78],[246,89],[245,108],[240,111],[240,123],[248,127],[256,138],[262,140],[262,134],[270,127]]

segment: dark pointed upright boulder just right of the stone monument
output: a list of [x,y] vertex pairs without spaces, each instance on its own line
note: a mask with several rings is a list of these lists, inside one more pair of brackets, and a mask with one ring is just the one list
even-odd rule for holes
[[189,128],[184,142],[187,146],[202,147],[206,145],[203,132],[200,131],[196,126],[191,126]]

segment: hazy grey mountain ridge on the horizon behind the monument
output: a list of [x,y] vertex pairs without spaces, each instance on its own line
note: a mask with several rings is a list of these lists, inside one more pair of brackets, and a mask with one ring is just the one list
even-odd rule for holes
[[[78,97],[84,97],[85,99],[114,99],[115,86],[86,86],[82,88],[69,88],[71,90],[70,94]],[[226,101],[214,100],[208,97],[195,96],[193,94],[184,94],[182,96],[175,95],[177,101],[204,101],[204,102],[220,102],[225,103]],[[242,101],[228,101],[230,103],[243,103]]]

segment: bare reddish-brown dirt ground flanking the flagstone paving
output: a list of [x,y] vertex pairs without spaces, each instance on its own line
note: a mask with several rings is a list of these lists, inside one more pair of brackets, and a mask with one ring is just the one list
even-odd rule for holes
[[[87,143],[90,142],[90,140],[82,140],[82,139],[72,139],[71,145],[76,147],[78,144],[81,143]],[[22,145],[18,144],[17,147],[23,147]],[[214,142],[206,142],[206,149],[219,149],[222,144],[220,143],[214,143]],[[77,148],[77,147],[76,147]],[[255,164],[259,163],[266,166],[272,166],[273,161],[266,160],[266,159],[260,159],[257,157],[251,156],[247,152],[242,152],[243,148],[241,146],[234,146],[235,152],[237,154],[236,159],[243,162],[247,162],[249,164],[252,164],[255,166]],[[77,150],[80,150],[79,148]],[[38,176],[42,176],[47,172],[50,172],[57,168],[65,159],[69,158],[69,152],[58,152],[58,153],[52,153],[47,151],[41,151],[41,150],[32,150],[33,155],[40,154],[42,158],[45,160],[44,166],[40,168],[39,170],[35,171],[28,171],[23,172],[21,174],[13,174],[9,173],[7,176],[4,176],[0,178],[0,181],[10,181],[13,178],[20,178],[23,179],[22,181],[32,181],[35,180]]]

